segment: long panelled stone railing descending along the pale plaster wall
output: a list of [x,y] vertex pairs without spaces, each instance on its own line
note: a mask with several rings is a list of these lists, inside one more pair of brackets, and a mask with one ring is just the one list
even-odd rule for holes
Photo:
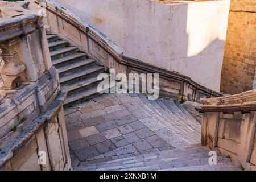
[[123,56],[123,50],[112,40],[68,9],[49,0],[35,1],[38,4],[40,2],[40,5],[47,10],[45,27],[49,28],[52,34],[68,39],[72,44],[99,60],[105,67],[115,69],[116,73],[159,73],[160,94],[184,100],[199,101],[200,98],[223,96],[221,93],[197,84],[187,76]]

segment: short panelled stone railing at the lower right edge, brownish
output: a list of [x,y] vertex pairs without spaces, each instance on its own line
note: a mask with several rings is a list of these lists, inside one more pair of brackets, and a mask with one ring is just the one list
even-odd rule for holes
[[201,143],[218,148],[246,170],[256,170],[256,90],[201,99]]

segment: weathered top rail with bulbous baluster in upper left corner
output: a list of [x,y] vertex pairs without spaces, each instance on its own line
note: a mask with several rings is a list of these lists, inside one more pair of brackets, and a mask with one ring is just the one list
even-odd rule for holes
[[[3,89],[11,90],[25,80],[26,60],[18,55],[21,35],[43,26],[43,16],[27,9],[29,2],[1,2],[0,49],[4,65],[0,68]],[[31,76],[30,76],[31,78]]]

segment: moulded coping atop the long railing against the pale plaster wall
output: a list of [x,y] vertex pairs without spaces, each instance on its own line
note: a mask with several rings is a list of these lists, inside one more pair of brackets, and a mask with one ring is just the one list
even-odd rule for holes
[[[40,5],[40,1],[35,1],[35,3]],[[68,9],[61,7],[59,3],[53,2],[51,0],[47,0],[46,8],[47,11],[56,15],[57,17],[63,19],[65,22],[68,22],[73,27],[77,28],[77,30],[81,31],[85,34],[92,42],[97,44],[100,48],[104,49],[108,55],[110,55],[113,60],[121,66],[125,66],[131,70],[136,70],[138,72],[149,72],[149,73],[159,73],[160,77],[163,77],[167,80],[172,80],[179,82],[181,84],[180,88],[180,96],[181,98],[185,98],[187,100],[187,95],[189,88],[192,88],[193,93],[197,93],[197,95],[203,94],[204,97],[221,97],[224,94],[215,92],[205,86],[197,84],[193,81],[190,77],[181,75],[176,72],[168,71],[164,68],[156,67],[155,65],[151,65],[148,63],[144,63],[143,61],[133,59],[127,56],[123,56],[123,50],[119,48],[112,40],[107,38],[102,32],[97,30],[97,28],[93,27],[89,23],[84,22],[81,18],[77,15],[71,13]],[[110,63],[109,63],[110,64]],[[108,65],[106,65],[108,67]],[[193,101],[199,101],[196,99],[196,94],[193,94]]]

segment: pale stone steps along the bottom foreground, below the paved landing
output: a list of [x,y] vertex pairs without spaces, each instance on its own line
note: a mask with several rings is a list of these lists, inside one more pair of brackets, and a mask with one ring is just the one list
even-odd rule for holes
[[240,164],[217,151],[217,164],[209,164],[209,148],[185,148],[151,152],[99,163],[82,163],[77,171],[237,171]]

